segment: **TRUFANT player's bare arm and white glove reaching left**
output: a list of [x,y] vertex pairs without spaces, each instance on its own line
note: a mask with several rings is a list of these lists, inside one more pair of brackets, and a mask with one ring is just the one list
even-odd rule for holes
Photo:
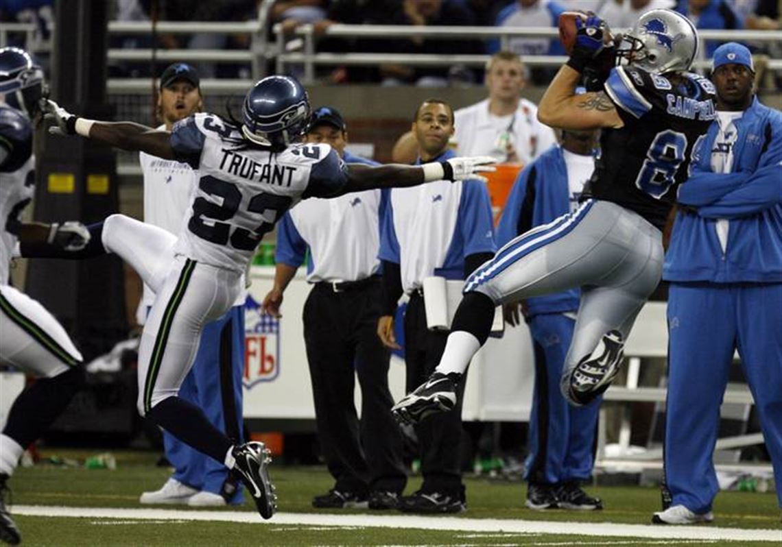
[[52,134],[80,134],[82,137],[104,142],[131,152],[147,152],[163,159],[176,159],[170,145],[170,133],[133,122],[102,122],[75,116],[56,102],[43,103],[47,120],[56,123]]

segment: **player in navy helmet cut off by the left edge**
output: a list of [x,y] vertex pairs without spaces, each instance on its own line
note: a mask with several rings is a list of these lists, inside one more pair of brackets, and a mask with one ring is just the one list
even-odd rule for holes
[[13,403],[0,434],[0,540],[11,545],[20,542],[20,533],[5,508],[6,481],[27,445],[46,431],[84,381],[81,353],[65,329],[9,284],[17,242],[69,252],[84,248],[90,238],[80,223],[21,220],[34,194],[34,121],[40,120],[43,86],[43,71],[27,52],[0,49],[0,362],[38,377]]

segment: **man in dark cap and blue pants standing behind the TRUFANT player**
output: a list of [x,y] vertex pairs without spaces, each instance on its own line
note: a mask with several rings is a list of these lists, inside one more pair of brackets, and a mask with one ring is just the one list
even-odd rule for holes
[[[186,63],[173,63],[160,75],[159,130],[203,110],[198,72]],[[186,222],[190,194],[199,174],[187,163],[139,152],[144,173],[144,222],[178,234]],[[242,374],[244,373],[244,302],[241,291],[234,305],[203,331],[192,369],[182,381],[179,396],[203,409],[206,417],[229,437],[242,440]],[[144,285],[138,304],[138,324],[146,322],[155,293]],[[217,370],[220,370],[217,374]],[[242,488],[221,462],[192,449],[163,431],[166,458],[174,473],[162,488],[143,492],[142,503],[186,503],[189,506],[224,506],[240,503]]]

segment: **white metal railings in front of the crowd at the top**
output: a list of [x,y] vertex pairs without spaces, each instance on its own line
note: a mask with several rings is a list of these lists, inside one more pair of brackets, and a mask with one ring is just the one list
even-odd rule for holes
[[[210,89],[221,91],[244,91],[252,81],[265,76],[267,63],[274,60],[277,73],[285,73],[289,66],[303,66],[303,83],[312,84],[315,80],[316,66],[377,66],[381,63],[399,63],[407,66],[483,66],[489,55],[439,55],[439,54],[403,54],[403,53],[332,53],[317,52],[318,37],[311,24],[301,25],[294,30],[294,41],[286,41],[282,26],[273,27],[274,42],[267,41],[267,16],[271,0],[261,2],[258,17],[254,20],[231,23],[174,22],[161,21],[156,24],[156,32],[161,34],[246,34],[250,38],[246,50],[216,49],[164,49],[154,52],[163,62],[187,61],[209,63],[242,63],[250,66],[251,80],[215,80],[208,82]],[[51,30],[51,29],[50,29]],[[109,35],[112,36],[149,36],[152,23],[149,21],[109,21]],[[8,43],[9,34],[25,34],[28,44],[38,44],[37,29],[32,23],[4,23],[0,27],[0,45]],[[514,28],[514,27],[405,27],[397,25],[343,25],[333,24],[325,29],[325,36],[332,38],[391,38],[406,40],[409,38],[441,39],[499,39],[501,48],[510,48],[515,38],[551,38],[556,39],[555,28]],[[768,30],[701,30],[698,32],[701,46],[705,41],[744,41],[744,42],[782,42],[780,34]],[[301,51],[292,51],[292,43]],[[33,46],[28,46],[34,49]],[[151,48],[110,48],[108,59],[112,62],[144,62],[152,59]],[[529,66],[559,66],[566,58],[561,55],[524,55]],[[708,68],[708,59],[698,59],[694,66]],[[782,59],[769,59],[769,70],[782,71]],[[205,84],[206,84],[205,80]],[[212,85],[214,87],[212,87]],[[139,80],[109,80],[109,92],[148,91],[149,86]]]

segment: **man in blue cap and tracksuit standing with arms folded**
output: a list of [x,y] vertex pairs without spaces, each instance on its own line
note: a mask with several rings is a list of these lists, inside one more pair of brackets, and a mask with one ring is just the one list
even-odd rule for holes
[[747,48],[717,48],[718,117],[695,145],[678,195],[687,209],[663,270],[671,282],[665,480],[673,501],[656,523],[713,519],[712,452],[734,349],[782,506],[782,113],[755,98],[754,76]]

